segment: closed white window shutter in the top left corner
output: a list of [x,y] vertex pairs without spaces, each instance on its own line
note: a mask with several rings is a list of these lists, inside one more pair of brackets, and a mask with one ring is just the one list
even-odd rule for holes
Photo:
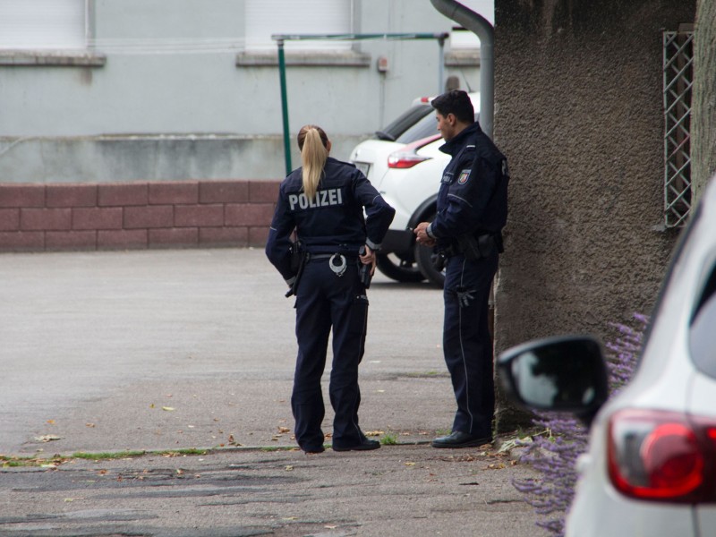
[[0,2],[0,48],[85,47],[85,0]]

